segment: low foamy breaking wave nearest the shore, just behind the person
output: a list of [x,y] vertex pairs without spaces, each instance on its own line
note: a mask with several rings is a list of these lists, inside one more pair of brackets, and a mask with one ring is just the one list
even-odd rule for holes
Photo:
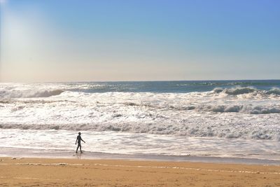
[[146,134],[167,134],[183,137],[219,137],[227,139],[267,139],[280,141],[280,130],[246,124],[170,124],[165,123],[80,123],[80,124],[5,124],[3,129],[22,130],[72,130],[72,131],[114,131]]

